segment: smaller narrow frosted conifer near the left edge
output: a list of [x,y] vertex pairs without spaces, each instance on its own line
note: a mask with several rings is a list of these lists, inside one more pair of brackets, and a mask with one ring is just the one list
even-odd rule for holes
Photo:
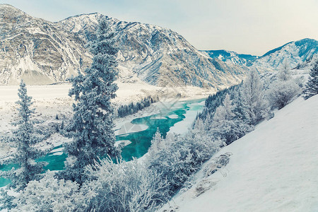
[[44,136],[37,134],[35,131],[32,120],[35,109],[30,109],[33,102],[31,101],[32,98],[27,95],[27,89],[23,81],[20,83],[18,96],[20,98],[16,102],[18,104],[18,120],[12,123],[13,126],[16,126],[16,129],[13,129],[13,135],[8,138],[12,146],[16,147],[16,153],[11,155],[5,163],[17,164],[19,167],[8,172],[0,172],[1,177],[11,179],[9,187],[16,191],[24,189],[31,180],[40,179],[43,166],[46,164],[43,162],[35,163],[35,158],[39,158],[46,153],[46,151],[35,148],[35,145],[42,141]]

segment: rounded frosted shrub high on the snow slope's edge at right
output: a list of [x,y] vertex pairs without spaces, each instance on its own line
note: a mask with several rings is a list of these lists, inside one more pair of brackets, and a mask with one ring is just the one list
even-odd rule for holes
[[271,108],[281,109],[300,95],[301,89],[293,80],[275,81],[267,90],[267,99]]

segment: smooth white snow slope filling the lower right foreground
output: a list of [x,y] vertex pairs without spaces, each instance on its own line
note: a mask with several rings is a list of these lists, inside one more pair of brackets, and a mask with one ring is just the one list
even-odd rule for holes
[[317,126],[318,95],[298,98],[214,155],[160,211],[318,211]]

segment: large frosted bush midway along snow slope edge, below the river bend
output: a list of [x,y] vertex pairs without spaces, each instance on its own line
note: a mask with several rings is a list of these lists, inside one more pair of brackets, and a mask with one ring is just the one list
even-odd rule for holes
[[168,134],[165,139],[157,132],[146,157],[149,169],[161,173],[161,178],[169,182],[169,192],[173,194],[201,167],[201,163],[211,158],[220,148],[220,141],[204,133],[204,126],[198,119],[193,130],[184,136]]

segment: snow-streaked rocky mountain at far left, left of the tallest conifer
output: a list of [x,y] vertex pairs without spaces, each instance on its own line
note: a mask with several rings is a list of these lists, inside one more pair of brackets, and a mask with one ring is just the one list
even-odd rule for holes
[[91,61],[76,35],[6,4],[0,5],[0,37],[0,84],[65,81]]

